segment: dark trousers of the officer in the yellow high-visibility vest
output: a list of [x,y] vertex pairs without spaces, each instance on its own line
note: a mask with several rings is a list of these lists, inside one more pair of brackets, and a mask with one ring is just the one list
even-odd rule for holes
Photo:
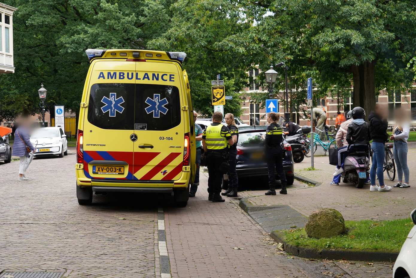
[[221,151],[210,151],[207,154],[208,163],[208,193],[219,195],[221,193],[221,183],[223,173],[220,172],[220,164],[224,161]]

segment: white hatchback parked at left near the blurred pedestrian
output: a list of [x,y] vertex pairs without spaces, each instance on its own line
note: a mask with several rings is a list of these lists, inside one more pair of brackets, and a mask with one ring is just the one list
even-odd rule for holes
[[39,128],[30,137],[30,142],[36,148],[35,156],[68,155],[67,135],[62,128]]

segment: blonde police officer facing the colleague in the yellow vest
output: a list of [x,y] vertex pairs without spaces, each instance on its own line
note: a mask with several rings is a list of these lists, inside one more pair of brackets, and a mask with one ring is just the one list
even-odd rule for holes
[[237,141],[238,141],[238,128],[235,125],[234,115],[232,113],[225,114],[225,123],[227,124],[230,134],[233,137],[234,145],[228,148],[228,164],[230,164],[230,170],[228,170],[228,190],[221,193],[221,195],[227,197],[237,197],[238,192],[238,176],[235,166],[237,165]]

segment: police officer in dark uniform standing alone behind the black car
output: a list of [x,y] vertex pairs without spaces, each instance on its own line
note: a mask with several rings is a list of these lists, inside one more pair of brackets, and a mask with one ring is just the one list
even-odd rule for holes
[[283,142],[283,129],[276,123],[278,115],[275,112],[267,113],[267,123],[270,125],[267,127],[265,136],[265,154],[267,159],[267,170],[269,171],[269,191],[265,195],[276,195],[276,170],[282,183],[282,189],[280,194],[287,194],[286,191],[286,176],[283,171],[283,151],[281,143]]

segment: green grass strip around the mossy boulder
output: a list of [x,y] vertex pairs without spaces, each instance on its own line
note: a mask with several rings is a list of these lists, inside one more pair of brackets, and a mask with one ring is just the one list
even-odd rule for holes
[[400,251],[414,224],[410,218],[397,220],[345,221],[347,232],[332,238],[309,238],[305,229],[283,230],[291,245],[316,249]]

